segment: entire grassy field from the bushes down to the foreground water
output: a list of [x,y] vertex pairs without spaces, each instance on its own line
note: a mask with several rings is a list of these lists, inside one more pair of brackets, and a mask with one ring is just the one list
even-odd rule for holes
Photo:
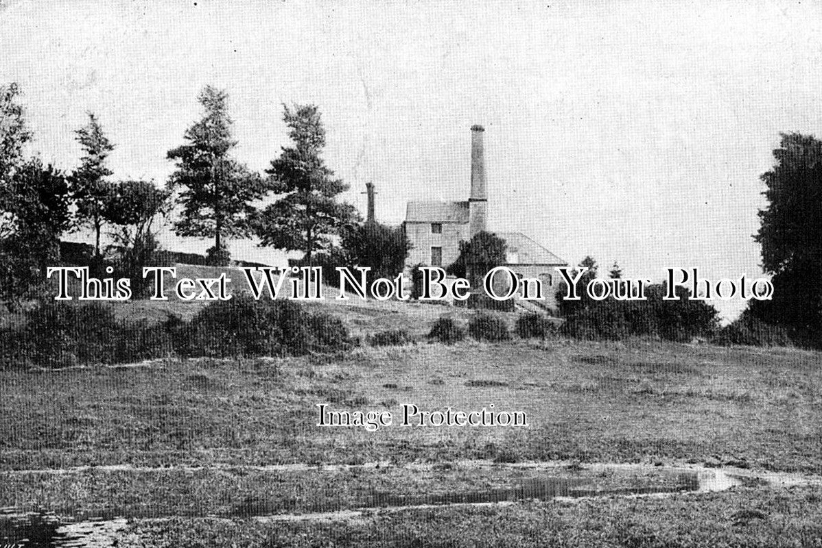
[[[360,336],[419,335],[442,313],[467,314],[334,309]],[[0,506],[134,518],[121,546],[820,546],[820,362],[797,349],[557,339],[3,371]],[[493,404],[527,413],[529,427],[317,427],[319,403],[395,414]],[[808,482],[617,495],[678,491],[670,472],[689,467]],[[548,496],[592,491],[611,495]],[[545,500],[517,501],[530,498]],[[460,500],[506,502],[445,504]]]

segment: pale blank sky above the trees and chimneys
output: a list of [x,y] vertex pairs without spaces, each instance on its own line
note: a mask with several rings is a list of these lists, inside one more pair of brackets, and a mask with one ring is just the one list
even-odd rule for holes
[[[315,103],[341,198],[364,213],[373,181],[378,220],[395,224],[410,200],[467,199],[481,124],[491,230],[628,277],[750,278],[779,134],[822,128],[822,2],[0,0],[12,81],[31,153],[76,167],[74,130],[95,112],[114,177],[158,185],[205,84],[228,91],[236,158],[254,170],[288,144],[283,103]],[[714,304],[725,318],[745,306]]]

